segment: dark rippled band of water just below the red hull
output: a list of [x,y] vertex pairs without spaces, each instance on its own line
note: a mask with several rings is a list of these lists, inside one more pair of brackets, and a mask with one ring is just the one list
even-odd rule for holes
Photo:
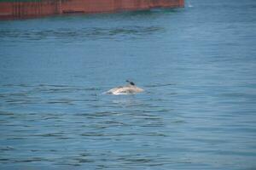
[[23,41],[27,40],[44,40],[44,39],[60,39],[69,40],[72,39],[104,39],[104,38],[117,38],[117,37],[144,37],[159,31],[164,31],[159,26],[125,26],[114,28],[81,28],[81,29],[68,29],[60,28],[56,30],[0,30],[0,39],[6,40],[6,38],[20,38]]

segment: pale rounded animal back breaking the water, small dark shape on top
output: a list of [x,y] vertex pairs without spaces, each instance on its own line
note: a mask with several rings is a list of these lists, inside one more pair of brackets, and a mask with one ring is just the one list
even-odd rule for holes
[[119,86],[118,88],[112,88],[106,92],[106,94],[121,95],[121,94],[138,94],[143,92],[143,88],[138,88],[134,82],[129,82],[126,86]]

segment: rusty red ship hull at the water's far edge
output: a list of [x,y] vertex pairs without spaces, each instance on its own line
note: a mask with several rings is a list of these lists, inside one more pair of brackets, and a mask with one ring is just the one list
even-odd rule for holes
[[[7,0],[8,1],[8,0]],[[179,8],[184,0],[41,0],[0,2],[0,20],[40,17],[54,14],[108,13],[148,8]]]

